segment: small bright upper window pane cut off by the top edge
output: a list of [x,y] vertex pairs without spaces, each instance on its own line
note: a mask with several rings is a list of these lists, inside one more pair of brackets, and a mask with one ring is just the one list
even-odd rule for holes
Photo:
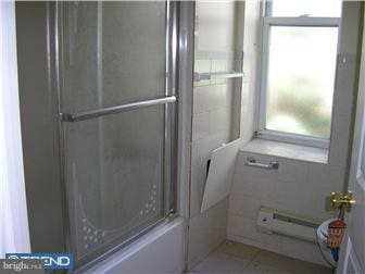
[[270,3],[272,16],[341,16],[341,0],[273,0]]

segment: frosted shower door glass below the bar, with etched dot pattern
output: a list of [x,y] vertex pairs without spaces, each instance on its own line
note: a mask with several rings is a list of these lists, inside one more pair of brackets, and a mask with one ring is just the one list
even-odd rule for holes
[[164,107],[65,123],[79,258],[163,217]]

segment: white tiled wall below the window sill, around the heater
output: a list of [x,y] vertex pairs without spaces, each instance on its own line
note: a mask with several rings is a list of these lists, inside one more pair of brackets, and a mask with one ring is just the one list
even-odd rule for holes
[[[248,157],[255,157],[262,162],[278,161],[279,170],[263,171],[246,166]],[[332,217],[335,212],[328,211],[326,197],[331,191],[342,190],[344,171],[344,167],[336,165],[239,152],[229,200],[228,238],[325,264],[315,245],[260,232],[257,212],[261,207],[269,207],[320,221]],[[305,259],[300,257],[301,252],[292,251],[304,246],[311,250],[305,253]]]

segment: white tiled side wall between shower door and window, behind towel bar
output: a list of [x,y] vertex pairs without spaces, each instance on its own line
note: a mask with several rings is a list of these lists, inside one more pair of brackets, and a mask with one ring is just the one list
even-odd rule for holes
[[[194,72],[225,72],[235,67],[235,2],[197,2]],[[188,266],[191,269],[225,238],[228,200],[200,213],[206,164],[212,150],[231,137],[234,83],[227,79],[193,84],[190,225]]]

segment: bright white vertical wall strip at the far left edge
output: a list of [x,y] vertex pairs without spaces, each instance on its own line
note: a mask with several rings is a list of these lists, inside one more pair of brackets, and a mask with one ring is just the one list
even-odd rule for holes
[[0,258],[4,258],[30,250],[13,1],[0,2]]

